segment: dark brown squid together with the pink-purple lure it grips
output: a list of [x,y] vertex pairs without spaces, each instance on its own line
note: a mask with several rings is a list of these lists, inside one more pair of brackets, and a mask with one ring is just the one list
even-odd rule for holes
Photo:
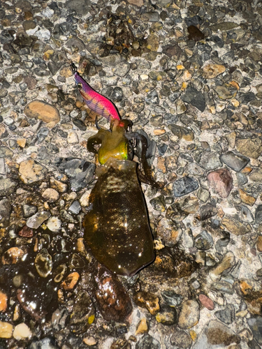
[[[71,69],[87,106],[110,121],[110,130],[100,128],[87,141],[87,150],[98,154],[101,166],[96,168],[98,180],[89,196],[89,211],[83,222],[85,241],[96,260],[111,272],[133,276],[155,258],[138,164],[132,161],[130,144],[133,139],[142,142],[144,179],[156,186],[145,158],[147,142],[143,135],[128,133],[131,121],[121,120],[115,105],[94,91],[74,64]],[[99,151],[97,144],[101,144]]]

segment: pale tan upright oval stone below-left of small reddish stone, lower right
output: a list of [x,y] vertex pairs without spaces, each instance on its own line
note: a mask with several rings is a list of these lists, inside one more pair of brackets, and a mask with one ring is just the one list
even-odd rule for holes
[[182,303],[182,308],[178,317],[178,326],[181,329],[189,329],[196,326],[199,320],[200,309],[198,302],[189,299]]

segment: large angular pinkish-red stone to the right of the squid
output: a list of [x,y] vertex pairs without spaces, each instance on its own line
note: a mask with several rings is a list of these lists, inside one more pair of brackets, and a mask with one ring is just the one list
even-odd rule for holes
[[208,184],[214,193],[227,198],[233,188],[233,178],[227,168],[221,168],[208,174]]

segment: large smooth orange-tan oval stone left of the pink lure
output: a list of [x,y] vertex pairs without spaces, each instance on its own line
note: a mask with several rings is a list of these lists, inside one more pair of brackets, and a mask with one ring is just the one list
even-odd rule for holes
[[[48,31],[50,33],[50,31]],[[56,107],[43,101],[32,101],[24,108],[24,114],[29,118],[39,119],[50,126],[60,121],[59,111]]]

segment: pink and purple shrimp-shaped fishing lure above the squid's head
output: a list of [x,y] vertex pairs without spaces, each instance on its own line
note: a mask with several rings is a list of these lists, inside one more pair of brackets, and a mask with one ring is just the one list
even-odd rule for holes
[[96,114],[101,115],[108,119],[108,121],[112,121],[114,119],[120,120],[119,114],[117,112],[117,108],[108,98],[102,96],[98,92],[96,92],[92,87],[87,84],[87,82],[79,75],[78,70],[75,64],[71,63],[71,70],[74,73],[75,84],[78,87],[78,91],[82,98],[85,101],[87,107]]

